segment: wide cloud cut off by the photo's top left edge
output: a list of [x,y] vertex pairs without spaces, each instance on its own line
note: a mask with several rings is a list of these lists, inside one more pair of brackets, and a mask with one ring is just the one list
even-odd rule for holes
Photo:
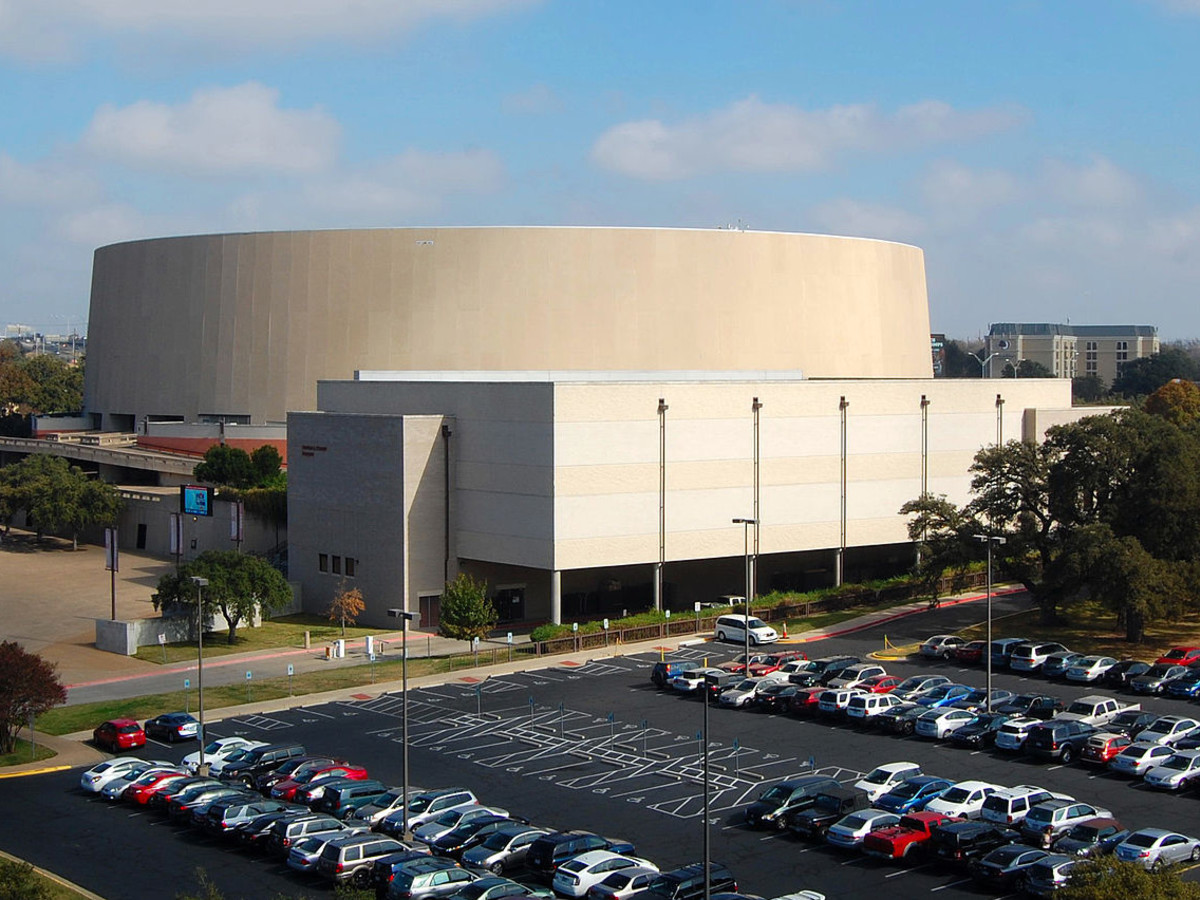
[[61,61],[96,37],[228,53],[402,36],[431,19],[503,14],[541,0],[0,0],[0,53]]

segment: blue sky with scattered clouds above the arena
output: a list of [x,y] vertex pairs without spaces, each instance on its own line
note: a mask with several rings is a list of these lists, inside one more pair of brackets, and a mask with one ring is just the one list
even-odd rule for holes
[[930,325],[1200,337],[1200,0],[0,0],[0,326],[96,247],[653,226],[925,252]]

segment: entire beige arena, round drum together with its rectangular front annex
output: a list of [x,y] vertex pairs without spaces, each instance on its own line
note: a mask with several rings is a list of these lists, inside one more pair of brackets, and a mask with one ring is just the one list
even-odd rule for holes
[[[289,577],[362,620],[619,614],[905,569],[900,505],[1076,418],[1067,379],[935,380],[924,260],[739,230],[434,228],[96,253],[96,427],[287,421]],[[1094,412],[1094,410],[1088,410]],[[222,426],[223,427],[223,426]],[[750,518],[751,524],[733,520]]]

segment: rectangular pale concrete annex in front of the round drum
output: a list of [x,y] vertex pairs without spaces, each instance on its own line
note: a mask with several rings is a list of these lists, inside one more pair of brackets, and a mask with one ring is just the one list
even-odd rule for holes
[[[899,510],[923,486],[965,503],[982,446],[1096,412],[1070,409],[1060,379],[362,373],[320,383],[322,412],[289,418],[292,577],[311,611],[328,604],[337,580],[319,571],[318,547],[341,547],[359,563],[364,620],[385,624],[389,606],[418,611],[438,590],[449,559],[448,578],[461,569],[520,588],[523,618],[553,618],[564,595],[653,581],[661,463],[672,605],[740,593],[746,535],[731,520],[755,514],[756,400],[756,590],[833,577],[844,402],[847,553],[893,562],[911,554]],[[353,484],[376,496],[336,487]]]

